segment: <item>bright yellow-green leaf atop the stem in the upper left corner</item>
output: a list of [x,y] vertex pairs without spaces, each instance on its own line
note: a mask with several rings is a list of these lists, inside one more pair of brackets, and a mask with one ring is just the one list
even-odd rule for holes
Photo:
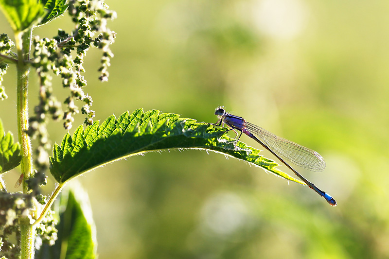
[[0,0],[0,9],[15,32],[30,28],[45,14],[37,0]]

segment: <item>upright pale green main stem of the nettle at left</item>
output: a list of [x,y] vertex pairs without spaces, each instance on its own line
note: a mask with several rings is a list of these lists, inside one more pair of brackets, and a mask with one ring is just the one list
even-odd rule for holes
[[[28,89],[28,74],[29,66],[26,61],[29,59],[30,53],[30,34],[18,32],[16,33],[16,47],[18,49],[18,82],[17,82],[17,117],[18,117],[18,138],[20,143],[21,173],[24,174],[23,193],[28,193],[26,179],[32,177],[32,152],[30,138],[26,133],[28,129],[28,105],[27,105],[27,89]],[[20,219],[20,234],[21,234],[21,258],[34,259],[34,241],[35,227],[26,219]]]

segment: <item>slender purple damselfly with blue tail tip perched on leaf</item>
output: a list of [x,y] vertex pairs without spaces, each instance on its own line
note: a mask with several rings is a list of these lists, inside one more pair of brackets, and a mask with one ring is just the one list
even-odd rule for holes
[[259,126],[247,122],[242,117],[227,113],[222,107],[216,108],[215,115],[218,116],[219,121],[211,123],[212,125],[220,126],[222,123],[225,123],[231,128],[230,130],[233,130],[236,133],[236,135],[238,134],[235,130],[240,131],[241,133],[238,140],[242,136],[242,133],[245,133],[248,137],[260,143],[265,149],[280,159],[285,166],[292,170],[293,173],[295,173],[297,177],[306,183],[312,190],[315,190],[321,197],[324,197],[331,206],[336,206],[336,200],[331,195],[318,189],[313,183],[305,179],[305,177],[284,161],[288,160],[295,165],[308,170],[321,172],[325,168],[325,161],[318,152],[303,147],[286,138],[278,137]]

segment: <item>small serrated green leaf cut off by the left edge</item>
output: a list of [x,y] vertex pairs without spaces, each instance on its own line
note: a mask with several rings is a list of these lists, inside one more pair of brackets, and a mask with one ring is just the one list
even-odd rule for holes
[[14,143],[11,132],[5,134],[3,123],[0,120],[0,173],[5,173],[20,164],[20,145]]

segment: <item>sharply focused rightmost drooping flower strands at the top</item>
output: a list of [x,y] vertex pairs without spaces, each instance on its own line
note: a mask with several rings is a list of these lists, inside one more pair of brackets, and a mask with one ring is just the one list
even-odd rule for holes
[[[98,69],[101,72],[99,79],[107,81],[107,68],[110,65],[110,58],[113,57],[109,45],[114,42],[116,35],[106,27],[107,20],[114,19],[116,13],[109,11],[103,0],[70,0],[69,13],[75,24],[74,31],[69,35],[59,30],[58,36],[55,37],[60,42],[58,46],[61,52],[67,55],[70,55],[71,51],[76,52],[76,57],[72,60],[74,69],[71,70],[76,88],[71,84],[71,80],[67,82],[70,84],[68,87],[71,89],[71,95],[65,101],[68,104],[68,110],[64,114],[66,128],[71,127],[72,116],[78,112],[78,108],[74,105],[74,99],[84,101],[85,104],[81,111],[88,116],[85,123],[88,125],[93,123],[92,118],[95,116],[95,112],[90,110],[92,99],[90,96],[84,95],[81,88],[78,88],[87,85],[86,80],[81,75],[81,72],[85,72],[84,57],[91,46],[98,47],[103,51],[101,66]],[[65,84],[64,86],[66,87]]]

